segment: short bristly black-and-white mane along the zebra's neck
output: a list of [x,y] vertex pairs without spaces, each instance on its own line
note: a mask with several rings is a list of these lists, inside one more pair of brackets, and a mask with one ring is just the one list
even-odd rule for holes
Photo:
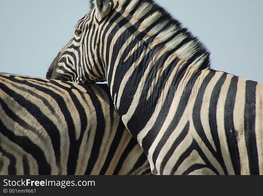
[[[153,0],[119,0],[122,10],[138,19],[140,24],[151,28],[151,33],[185,59],[192,60],[196,67],[210,69],[210,53],[197,37]],[[94,1],[90,0],[90,8]]]

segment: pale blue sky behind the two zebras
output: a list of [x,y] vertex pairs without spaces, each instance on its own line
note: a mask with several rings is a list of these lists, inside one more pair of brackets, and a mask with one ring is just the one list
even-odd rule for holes
[[[211,67],[263,82],[263,1],[158,0],[207,46]],[[45,77],[88,0],[0,0],[0,72]]]

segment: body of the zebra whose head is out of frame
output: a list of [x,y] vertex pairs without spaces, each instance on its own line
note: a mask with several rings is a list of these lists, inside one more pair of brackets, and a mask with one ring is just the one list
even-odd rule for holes
[[0,174],[152,174],[105,84],[0,73]]

